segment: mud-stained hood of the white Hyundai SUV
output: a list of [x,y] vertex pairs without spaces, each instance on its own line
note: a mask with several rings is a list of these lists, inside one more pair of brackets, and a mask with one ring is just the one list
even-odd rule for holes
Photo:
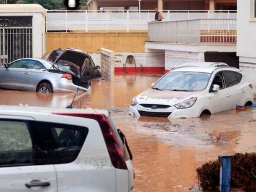
[[170,91],[170,90],[156,90],[156,89],[148,89],[143,91],[137,96],[137,101],[139,103],[156,103],[160,102],[168,102],[169,104],[177,104],[179,101],[182,101],[185,98],[190,98],[194,96],[194,92],[187,91]]

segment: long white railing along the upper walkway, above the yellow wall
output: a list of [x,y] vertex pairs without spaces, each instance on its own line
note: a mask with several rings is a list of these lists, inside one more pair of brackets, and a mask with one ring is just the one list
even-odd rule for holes
[[[236,19],[236,10],[163,10],[164,21]],[[48,10],[46,31],[148,30],[154,10]]]

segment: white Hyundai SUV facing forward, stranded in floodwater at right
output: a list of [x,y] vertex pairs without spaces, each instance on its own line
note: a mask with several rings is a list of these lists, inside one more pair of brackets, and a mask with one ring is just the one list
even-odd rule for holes
[[200,117],[252,105],[253,101],[253,86],[241,70],[224,63],[187,62],[176,65],[135,96],[129,114]]

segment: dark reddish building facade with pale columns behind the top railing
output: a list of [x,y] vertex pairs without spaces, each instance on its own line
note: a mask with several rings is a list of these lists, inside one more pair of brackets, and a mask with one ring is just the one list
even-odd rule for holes
[[89,10],[236,10],[236,0],[88,0]]

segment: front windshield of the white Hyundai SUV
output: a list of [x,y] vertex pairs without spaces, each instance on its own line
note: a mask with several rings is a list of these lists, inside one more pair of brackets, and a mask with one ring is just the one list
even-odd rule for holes
[[207,88],[211,73],[170,72],[156,82],[152,88],[171,91],[202,91]]

